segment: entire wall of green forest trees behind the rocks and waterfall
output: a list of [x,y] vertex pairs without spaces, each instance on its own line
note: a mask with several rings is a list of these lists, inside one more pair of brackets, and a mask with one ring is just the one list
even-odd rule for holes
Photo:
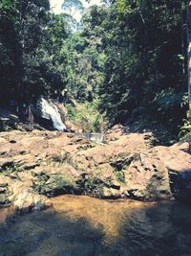
[[[179,132],[188,108],[186,4],[111,0],[84,12],[65,0],[54,15],[48,0],[2,0],[0,100],[28,103],[65,88],[82,109],[96,103],[110,125],[147,117]],[[85,13],[80,23],[75,12]]]

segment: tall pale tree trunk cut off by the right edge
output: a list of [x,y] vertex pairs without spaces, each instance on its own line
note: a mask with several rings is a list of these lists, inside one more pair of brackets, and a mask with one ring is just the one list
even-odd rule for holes
[[188,98],[189,119],[191,119],[191,1],[187,7],[187,40],[188,40]]

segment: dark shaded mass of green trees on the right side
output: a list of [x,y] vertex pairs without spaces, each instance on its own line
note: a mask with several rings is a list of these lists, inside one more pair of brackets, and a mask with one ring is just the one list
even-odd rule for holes
[[180,124],[187,91],[185,18],[185,1],[111,5],[103,21],[107,61],[101,107],[112,123],[125,122],[138,109],[168,125]]

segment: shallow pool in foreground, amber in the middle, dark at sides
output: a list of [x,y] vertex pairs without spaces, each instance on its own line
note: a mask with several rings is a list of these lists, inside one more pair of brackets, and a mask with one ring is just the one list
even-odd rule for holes
[[1,256],[190,256],[191,208],[175,202],[53,198],[53,209],[0,210]]

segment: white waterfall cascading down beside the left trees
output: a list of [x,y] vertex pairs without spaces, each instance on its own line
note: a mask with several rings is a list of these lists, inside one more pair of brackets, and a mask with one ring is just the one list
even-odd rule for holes
[[40,100],[40,105],[43,118],[52,120],[53,128],[61,131],[66,129],[66,126],[63,124],[61,120],[61,116],[58,112],[58,108],[56,105],[54,105],[51,101],[46,101],[43,98],[41,98]]

